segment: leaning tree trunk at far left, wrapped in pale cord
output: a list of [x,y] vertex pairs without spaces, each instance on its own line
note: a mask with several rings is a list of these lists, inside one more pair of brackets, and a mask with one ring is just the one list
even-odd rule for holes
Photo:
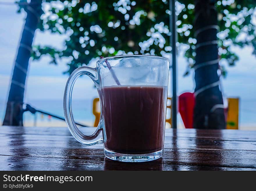
[[13,76],[6,106],[6,113],[3,125],[23,126],[22,104],[24,98],[24,88],[29,65],[29,58],[32,51],[32,42],[35,29],[40,21],[42,13],[42,0],[31,0],[24,5],[27,17],[22,32],[21,41],[17,57],[14,63]]

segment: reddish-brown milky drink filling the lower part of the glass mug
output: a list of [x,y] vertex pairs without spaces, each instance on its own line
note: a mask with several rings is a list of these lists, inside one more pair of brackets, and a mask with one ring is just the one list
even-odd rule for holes
[[105,148],[145,154],[163,149],[165,86],[108,86],[98,90],[105,120]]

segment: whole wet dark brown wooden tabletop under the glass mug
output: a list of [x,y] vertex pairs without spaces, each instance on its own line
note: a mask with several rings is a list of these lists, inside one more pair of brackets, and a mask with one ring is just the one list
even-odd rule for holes
[[123,163],[67,128],[0,126],[0,170],[256,170],[256,131],[167,129],[162,158]]

